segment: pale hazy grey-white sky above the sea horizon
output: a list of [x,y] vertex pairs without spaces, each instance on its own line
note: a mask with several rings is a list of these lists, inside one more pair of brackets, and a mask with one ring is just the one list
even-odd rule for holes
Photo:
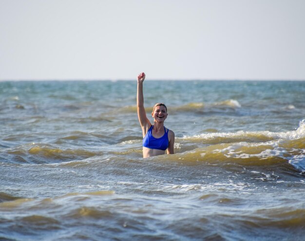
[[0,80],[305,80],[305,0],[0,0]]

